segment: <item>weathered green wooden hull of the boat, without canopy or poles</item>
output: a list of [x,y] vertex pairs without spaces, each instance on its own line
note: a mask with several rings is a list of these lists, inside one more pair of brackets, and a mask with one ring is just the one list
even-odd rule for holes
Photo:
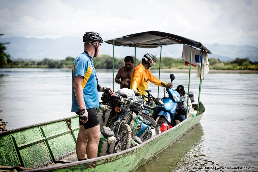
[[133,148],[84,161],[75,153],[78,116],[2,132],[0,171],[134,171],[195,127],[205,111],[202,103],[199,111]]

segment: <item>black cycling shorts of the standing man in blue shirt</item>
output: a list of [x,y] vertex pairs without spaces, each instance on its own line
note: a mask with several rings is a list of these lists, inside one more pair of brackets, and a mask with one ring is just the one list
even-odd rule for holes
[[[80,121],[79,119],[79,124],[83,125],[85,130],[99,125],[97,109],[90,108],[90,109],[87,109],[87,112],[88,112],[88,118],[89,118],[87,122],[82,123],[82,121]],[[79,115],[79,112],[75,112],[75,113]]]

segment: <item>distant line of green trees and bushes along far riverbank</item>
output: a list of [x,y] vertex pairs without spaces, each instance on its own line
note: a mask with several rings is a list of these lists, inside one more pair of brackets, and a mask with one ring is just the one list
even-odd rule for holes
[[[65,60],[43,59],[42,61],[12,61],[11,66],[16,68],[71,68],[75,58],[67,57]],[[115,69],[124,66],[124,59],[115,58]],[[96,69],[112,69],[113,59],[109,55],[99,55],[98,59],[93,58],[94,67]],[[141,61],[136,59],[136,65]],[[10,65],[8,67],[11,67]],[[7,66],[6,66],[7,67]],[[161,69],[189,69],[184,65],[184,60],[180,58],[161,58]],[[194,69],[195,67],[192,67]],[[159,58],[151,69],[159,69]],[[216,58],[209,58],[209,69],[217,70],[258,70],[258,62],[252,62],[248,58],[236,58],[233,61],[221,62]]]

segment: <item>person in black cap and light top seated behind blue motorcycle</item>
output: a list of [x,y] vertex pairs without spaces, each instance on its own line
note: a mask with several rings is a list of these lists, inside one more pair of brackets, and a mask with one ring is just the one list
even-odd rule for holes
[[[183,85],[179,85],[175,89],[175,91],[177,91],[180,94],[182,102],[184,102],[184,103],[181,103],[181,104],[178,105],[178,107],[179,107],[179,109],[177,110],[178,114],[176,114],[176,116],[175,116],[175,119],[178,119],[180,122],[182,122],[183,120],[186,119],[187,97],[188,97],[188,95],[186,94],[186,91],[184,91],[184,86]],[[189,101],[188,101],[188,113],[187,114],[190,113],[191,108],[192,108],[192,103],[191,103],[191,100],[189,98]]]

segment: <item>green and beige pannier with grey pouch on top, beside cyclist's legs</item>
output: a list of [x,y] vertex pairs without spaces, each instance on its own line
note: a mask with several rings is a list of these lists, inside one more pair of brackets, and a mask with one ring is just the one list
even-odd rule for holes
[[114,132],[109,127],[104,126],[101,130],[101,136],[98,146],[98,157],[112,154],[115,149],[116,138]]

